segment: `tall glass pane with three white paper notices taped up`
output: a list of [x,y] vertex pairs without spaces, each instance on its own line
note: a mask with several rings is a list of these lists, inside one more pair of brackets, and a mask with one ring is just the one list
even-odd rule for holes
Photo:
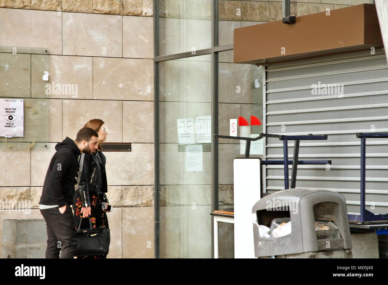
[[211,55],[159,63],[160,257],[211,257]]

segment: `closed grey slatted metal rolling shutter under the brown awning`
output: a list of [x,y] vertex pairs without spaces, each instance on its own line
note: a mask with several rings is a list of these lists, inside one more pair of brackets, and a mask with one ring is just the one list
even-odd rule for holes
[[[356,132],[388,132],[388,67],[384,49],[277,63],[265,73],[265,133],[328,135],[300,143],[300,159],[331,159],[326,166],[298,166],[296,187],[319,187],[345,196],[348,212],[359,212],[360,139]],[[341,94],[313,95],[312,85],[343,84]],[[331,90],[333,93],[335,90]],[[289,157],[293,142],[289,142]],[[264,158],[281,159],[282,143],[267,138]],[[367,139],[366,201],[388,212],[388,140]],[[291,166],[290,166],[291,168]],[[267,166],[268,193],[284,189],[283,166]],[[291,175],[291,172],[290,172]]]

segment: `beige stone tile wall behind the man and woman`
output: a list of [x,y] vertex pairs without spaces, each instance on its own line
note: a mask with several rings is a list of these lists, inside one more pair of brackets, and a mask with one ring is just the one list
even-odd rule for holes
[[[0,98],[24,99],[24,137],[0,138],[0,202],[26,200],[32,208],[0,210],[0,244],[3,219],[42,218],[55,144],[100,118],[107,142],[132,143],[132,152],[105,152],[114,206],[108,257],[154,257],[153,22],[143,16],[152,16],[152,1],[0,0],[0,47],[16,47],[0,52]],[[52,82],[77,92],[47,92]]]

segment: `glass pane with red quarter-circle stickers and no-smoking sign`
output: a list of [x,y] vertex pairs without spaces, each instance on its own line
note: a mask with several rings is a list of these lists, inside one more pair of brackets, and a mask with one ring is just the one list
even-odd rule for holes
[[[262,122],[263,117],[263,74],[262,67],[252,64],[233,63],[233,50],[220,52],[218,57],[218,133],[230,135],[230,124],[236,119],[237,136],[258,136],[262,125],[252,125],[251,116]],[[248,121],[249,126],[239,126],[239,117]],[[250,157],[263,158],[263,147],[251,144]],[[234,207],[233,199],[233,159],[244,157],[245,141],[218,139],[218,208]],[[234,228],[230,225],[219,227],[219,257],[234,256]],[[228,242],[229,241],[229,242]]]

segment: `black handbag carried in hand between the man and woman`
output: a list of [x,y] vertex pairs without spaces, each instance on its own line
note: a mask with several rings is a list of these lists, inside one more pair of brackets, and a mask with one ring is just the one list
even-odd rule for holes
[[81,222],[76,230],[77,247],[75,256],[93,256],[108,254],[111,236],[107,228],[93,228],[89,217],[90,229],[80,229]]

